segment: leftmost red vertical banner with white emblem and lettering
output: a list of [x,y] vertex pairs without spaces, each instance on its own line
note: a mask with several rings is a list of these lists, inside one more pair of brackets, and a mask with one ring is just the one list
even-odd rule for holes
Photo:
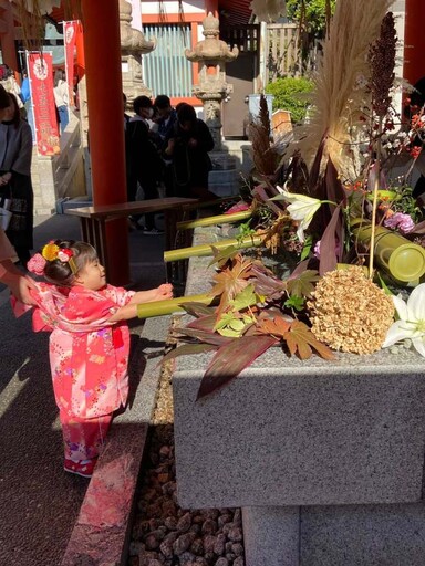
[[51,53],[28,53],[37,149],[39,155],[60,153],[59,128],[53,95],[53,57]]

